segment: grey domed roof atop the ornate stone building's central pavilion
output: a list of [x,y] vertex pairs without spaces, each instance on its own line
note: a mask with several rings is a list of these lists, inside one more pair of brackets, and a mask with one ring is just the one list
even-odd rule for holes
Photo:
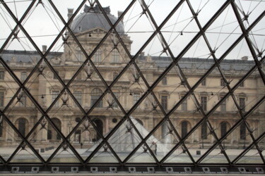
[[[110,14],[110,7],[104,8],[104,11],[107,13],[112,24],[114,24],[117,18]],[[100,27],[106,31],[110,30],[110,25],[107,23],[105,16],[99,10],[98,6],[85,6],[84,12],[78,15],[71,23],[71,30],[74,33],[83,32],[96,27]],[[124,34],[124,26],[121,22],[119,22],[115,28],[119,34]]]

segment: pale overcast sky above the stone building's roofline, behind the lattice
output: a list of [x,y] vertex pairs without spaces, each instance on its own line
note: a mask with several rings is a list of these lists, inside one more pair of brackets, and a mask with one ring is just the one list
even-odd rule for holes
[[[192,7],[194,8],[194,11],[199,11],[198,18],[202,26],[206,24],[208,19],[210,19],[211,16],[216,13],[218,8],[220,8],[220,6],[222,6],[222,4],[225,2],[225,0],[190,1]],[[30,4],[30,1],[16,1],[16,4],[14,4],[13,1],[6,2],[9,2],[8,6],[11,8],[15,15],[18,15],[18,18],[23,15],[25,9]],[[124,11],[126,6],[128,6],[130,2],[131,1],[125,0],[100,1],[102,6],[110,6],[111,13],[115,16],[117,16],[117,11]],[[158,25],[160,25],[160,23],[165,19],[168,13],[172,11],[172,8],[174,8],[178,2],[179,1],[176,0],[146,0],[146,4],[150,5],[149,9]],[[42,45],[49,46],[50,44],[52,44],[52,41],[55,39],[56,34],[58,34],[59,30],[64,27],[59,18],[54,17],[54,15],[56,14],[52,14],[52,11],[50,10],[52,9],[52,7],[49,5],[48,1],[43,0],[43,3],[45,8],[41,4],[35,6],[34,11],[30,15],[28,20],[23,23],[23,26],[28,31],[30,36],[37,36],[33,37],[33,39],[39,47],[41,47]],[[74,8],[74,10],[76,10],[80,3],[81,1],[54,1],[54,4],[57,6],[65,20],[67,20],[67,8]],[[236,3],[238,5],[238,8],[240,8],[240,11],[244,11],[245,13],[251,12],[248,18],[249,24],[251,24],[257,18],[257,16],[264,11],[264,1],[260,2],[236,0]],[[10,34],[11,29],[16,25],[16,23],[14,23],[11,17],[8,16],[6,11],[4,10],[4,6],[2,4],[0,6],[0,46],[2,46],[4,39],[8,37],[8,34]],[[49,13],[52,20],[47,12]],[[83,8],[78,13],[81,12],[83,12]],[[126,13],[124,18],[125,32],[128,32],[127,34],[133,41],[133,44],[131,46],[131,54],[135,54],[136,51],[141,48],[141,45],[146,42],[146,39],[148,39],[148,37],[150,37],[152,32],[154,31],[153,26],[149,22],[146,15],[141,15],[141,12],[142,8],[140,2],[136,1],[136,4],[132,6],[131,10]],[[192,19],[192,13],[189,10],[187,3],[184,2],[184,4],[179,8],[179,10],[172,16],[172,18],[165,24],[162,29],[163,36],[165,37],[167,44],[170,45],[170,49],[175,56],[177,56],[177,54],[179,54],[179,52],[184,49],[189,41],[196,35],[196,32],[199,32],[199,28],[197,27],[195,20]],[[55,27],[54,23],[57,25],[57,27]],[[245,21],[244,23],[245,26],[248,27],[247,21]],[[264,50],[264,24],[265,19],[263,18],[260,23],[252,30],[253,35],[249,35],[254,46],[257,47],[259,51]],[[220,34],[220,32],[222,34]],[[228,47],[232,44],[232,42],[235,41],[235,39],[237,39],[237,37],[240,36],[240,34],[242,34],[242,32],[231,6],[228,6],[228,8],[225,9],[225,11],[222,13],[222,15],[220,15],[216,22],[213,23],[211,27],[209,27],[206,31],[206,36],[208,37],[208,41],[210,42],[211,47],[213,49],[217,49],[216,56],[218,57],[220,57],[223,52],[228,49]],[[14,39],[6,49],[24,50],[25,48],[26,50],[33,50],[33,46],[31,46],[29,42],[26,41],[26,39],[22,39],[22,33],[19,33],[18,37],[21,37],[20,41],[21,43],[23,43],[24,47],[21,46],[21,44],[19,44],[16,39]],[[62,42],[61,39],[59,42]],[[57,46],[59,45],[60,44],[57,44]],[[54,48],[53,50],[56,51],[57,49]],[[155,37],[153,41],[148,44],[144,51],[145,54],[160,56],[162,50],[163,47],[160,44],[160,39],[158,37]],[[62,48],[59,49],[59,51],[62,51]],[[204,39],[201,38],[184,56],[207,58],[208,54],[209,51],[206,47]],[[162,54],[161,56],[166,55]],[[247,49],[247,43],[245,42],[245,40],[242,40],[242,42],[240,42],[240,44],[235,47],[234,51],[231,52],[228,58],[240,59],[242,58],[242,56],[249,56],[249,58],[251,59],[251,54]]]

